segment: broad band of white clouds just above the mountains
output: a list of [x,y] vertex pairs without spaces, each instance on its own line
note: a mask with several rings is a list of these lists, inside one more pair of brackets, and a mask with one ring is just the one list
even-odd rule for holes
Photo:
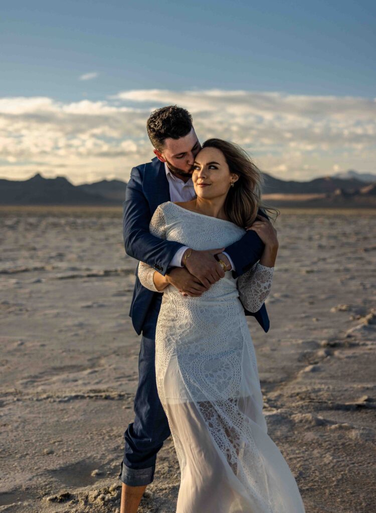
[[[117,176],[154,155],[146,119],[154,108],[190,110],[201,141],[212,136],[249,151],[260,169],[309,180],[333,169],[375,172],[376,102],[281,92],[132,90],[92,102],[0,98],[0,176],[41,170],[74,183]],[[336,166],[336,167],[334,167]]]

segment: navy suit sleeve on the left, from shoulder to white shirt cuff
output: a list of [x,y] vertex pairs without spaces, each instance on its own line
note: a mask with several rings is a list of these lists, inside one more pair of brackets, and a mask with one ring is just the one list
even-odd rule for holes
[[153,212],[142,189],[142,176],[134,167],[125,191],[123,202],[123,239],[125,252],[165,275],[179,242],[162,240],[149,232]]

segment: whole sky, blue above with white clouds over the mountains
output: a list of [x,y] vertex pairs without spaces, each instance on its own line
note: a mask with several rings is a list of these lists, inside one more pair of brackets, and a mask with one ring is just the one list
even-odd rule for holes
[[127,180],[152,110],[311,180],[376,173],[376,4],[13,0],[0,19],[0,177]]

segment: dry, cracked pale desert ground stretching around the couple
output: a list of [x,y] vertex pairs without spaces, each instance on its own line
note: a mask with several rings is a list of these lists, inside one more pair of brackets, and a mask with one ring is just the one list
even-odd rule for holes
[[[281,209],[269,332],[249,319],[307,513],[376,511],[375,215]],[[121,208],[6,207],[0,228],[0,511],[115,512],[139,354]],[[178,487],[170,437],[141,513]]]

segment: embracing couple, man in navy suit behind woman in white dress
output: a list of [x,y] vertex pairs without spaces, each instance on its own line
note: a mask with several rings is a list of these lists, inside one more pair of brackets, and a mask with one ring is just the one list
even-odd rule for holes
[[125,250],[139,261],[130,315],[142,339],[121,513],[136,513],[170,434],[177,513],[304,513],[267,433],[246,321],[269,329],[278,250],[261,173],[232,143],[201,146],[183,108],[152,112],[147,132],[156,157],[132,169],[123,203]]

